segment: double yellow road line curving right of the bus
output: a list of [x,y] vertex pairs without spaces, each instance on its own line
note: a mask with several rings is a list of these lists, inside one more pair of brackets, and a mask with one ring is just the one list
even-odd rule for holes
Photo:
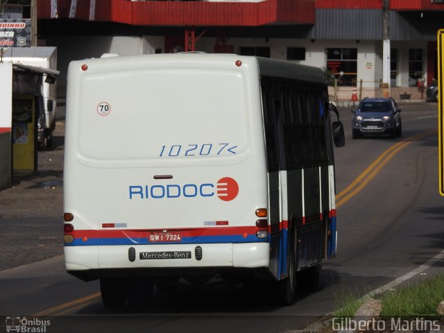
[[370,180],[372,180],[376,174],[379,172],[379,170],[384,167],[384,165],[391,160],[391,158],[398,153],[402,148],[405,148],[412,142],[421,139],[422,137],[427,137],[429,135],[432,135],[436,133],[436,130],[431,130],[426,133],[421,133],[418,135],[415,135],[413,137],[409,137],[409,139],[406,139],[402,142],[398,142],[397,144],[394,144],[390,148],[388,148],[384,153],[379,155],[379,157],[373,161],[367,169],[365,169],[355,180],[353,180],[348,187],[343,189],[337,196],[336,196],[336,208],[340,207],[344,203],[346,203],[350,198],[355,196],[361,189],[363,189]]

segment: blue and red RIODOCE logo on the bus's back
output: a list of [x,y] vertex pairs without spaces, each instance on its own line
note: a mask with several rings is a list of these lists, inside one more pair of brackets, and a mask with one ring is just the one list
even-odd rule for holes
[[207,198],[217,196],[223,201],[231,201],[239,194],[239,184],[230,177],[223,177],[216,183],[168,184],[168,185],[130,185],[129,198],[133,199],[173,199]]

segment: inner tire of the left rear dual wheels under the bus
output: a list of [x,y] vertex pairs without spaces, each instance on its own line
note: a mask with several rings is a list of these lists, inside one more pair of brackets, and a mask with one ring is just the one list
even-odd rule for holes
[[146,277],[128,278],[128,304],[130,307],[146,308],[153,302],[153,280]]

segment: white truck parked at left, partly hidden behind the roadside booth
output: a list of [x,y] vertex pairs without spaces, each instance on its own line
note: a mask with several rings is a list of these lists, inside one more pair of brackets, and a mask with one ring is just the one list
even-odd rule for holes
[[[11,47],[3,54],[4,61],[14,65],[57,69],[57,48],[54,46]],[[57,87],[53,76],[42,80],[41,99],[38,105],[37,142],[39,148],[52,145],[56,128]]]

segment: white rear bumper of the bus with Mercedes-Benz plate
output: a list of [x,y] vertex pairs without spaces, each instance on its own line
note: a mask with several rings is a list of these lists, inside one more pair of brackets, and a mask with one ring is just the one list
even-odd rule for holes
[[[199,258],[198,247],[201,248]],[[131,255],[131,253],[133,255]],[[270,244],[162,244],[65,246],[65,267],[73,271],[150,268],[268,268]]]

